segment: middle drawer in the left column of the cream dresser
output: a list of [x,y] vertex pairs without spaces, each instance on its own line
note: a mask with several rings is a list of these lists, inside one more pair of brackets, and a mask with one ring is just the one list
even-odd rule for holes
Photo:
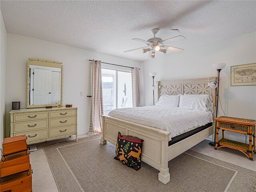
[[14,132],[48,128],[48,120],[14,123]]

